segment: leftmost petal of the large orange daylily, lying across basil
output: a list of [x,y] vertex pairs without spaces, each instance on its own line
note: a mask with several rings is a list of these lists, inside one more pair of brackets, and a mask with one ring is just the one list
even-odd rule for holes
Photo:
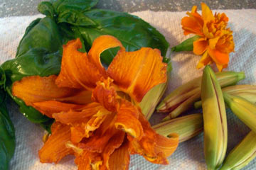
[[34,102],[59,100],[68,96],[73,96],[77,90],[66,87],[59,88],[55,85],[57,77],[23,77],[21,81],[15,81],[12,86],[12,94],[21,98],[27,106],[32,106]]

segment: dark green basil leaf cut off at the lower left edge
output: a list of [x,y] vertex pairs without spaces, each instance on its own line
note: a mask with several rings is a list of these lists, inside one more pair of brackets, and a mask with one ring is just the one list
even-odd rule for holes
[[5,92],[0,90],[0,169],[8,170],[14,156],[15,132],[5,104]]

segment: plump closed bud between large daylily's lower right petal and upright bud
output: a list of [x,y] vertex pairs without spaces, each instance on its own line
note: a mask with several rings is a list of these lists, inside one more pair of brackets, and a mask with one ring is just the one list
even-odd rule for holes
[[185,115],[159,123],[152,128],[165,137],[177,133],[179,142],[184,142],[203,132],[203,115],[201,113]]

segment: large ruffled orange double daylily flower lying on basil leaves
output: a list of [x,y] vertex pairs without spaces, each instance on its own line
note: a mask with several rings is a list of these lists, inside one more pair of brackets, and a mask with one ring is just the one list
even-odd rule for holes
[[[52,135],[39,151],[41,162],[58,163],[75,155],[78,169],[128,169],[129,155],[141,154],[155,164],[178,146],[178,135],[156,134],[144,118],[139,102],[149,89],[166,82],[166,64],[159,50],[142,47],[126,52],[110,35],[97,38],[90,51],[79,52],[79,39],[63,45],[58,76],[24,77],[12,94],[55,118]],[[100,54],[120,47],[106,70]]]

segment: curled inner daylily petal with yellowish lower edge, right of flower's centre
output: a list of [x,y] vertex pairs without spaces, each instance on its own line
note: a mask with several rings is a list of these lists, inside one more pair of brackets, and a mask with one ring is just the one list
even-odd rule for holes
[[140,140],[143,135],[143,128],[138,118],[138,109],[129,101],[122,100],[114,125],[117,129],[124,130],[124,132]]

